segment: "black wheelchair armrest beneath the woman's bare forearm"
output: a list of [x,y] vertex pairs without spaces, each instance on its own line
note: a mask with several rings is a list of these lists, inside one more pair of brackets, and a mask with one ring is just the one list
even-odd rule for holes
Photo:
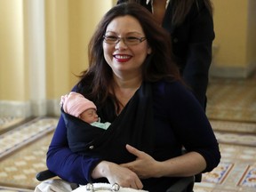
[[180,178],[180,180],[168,188],[166,192],[193,192],[194,183],[194,176]]

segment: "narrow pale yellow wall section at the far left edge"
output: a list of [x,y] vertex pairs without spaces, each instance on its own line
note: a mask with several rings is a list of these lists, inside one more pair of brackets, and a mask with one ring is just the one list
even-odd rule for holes
[[22,1],[0,1],[0,26],[0,100],[27,100]]

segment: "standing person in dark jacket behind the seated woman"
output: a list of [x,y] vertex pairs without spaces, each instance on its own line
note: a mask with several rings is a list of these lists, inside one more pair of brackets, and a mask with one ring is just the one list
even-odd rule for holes
[[118,0],[117,4],[127,1],[146,7],[172,36],[180,73],[205,110],[215,37],[211,0]]

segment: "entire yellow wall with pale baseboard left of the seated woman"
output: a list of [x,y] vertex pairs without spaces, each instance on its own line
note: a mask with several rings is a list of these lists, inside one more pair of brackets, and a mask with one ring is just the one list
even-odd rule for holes
[[[30,52],[36,46],[29,23],[35,2],[0,0],[0,116],[60,112],[60,95],[76,84],[73,74],[87,68],[89,39],[102,15],[113,5],[113,0],[39,0],[44,4],[44,20],[39,20],[38,26],[45,28],[45,53],[39,52],[36,60],[37,55]],[[31,67],[36,70],[31,71]]]

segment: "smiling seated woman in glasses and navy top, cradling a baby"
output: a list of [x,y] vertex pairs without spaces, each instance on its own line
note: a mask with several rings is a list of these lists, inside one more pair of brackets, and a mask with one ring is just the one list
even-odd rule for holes
[[101,121],[111,125],[93,129],[100,132],[89,125],[81,155],[68,148],[66,116],[60,116],[47,166],[63,180],[164,192],[179,177],[219,164],[211,124],[180,80],[170,36],[152,20],[138,4],[119,4],[100,21],[89,44],[89,68],[73,91],[92,100]]

